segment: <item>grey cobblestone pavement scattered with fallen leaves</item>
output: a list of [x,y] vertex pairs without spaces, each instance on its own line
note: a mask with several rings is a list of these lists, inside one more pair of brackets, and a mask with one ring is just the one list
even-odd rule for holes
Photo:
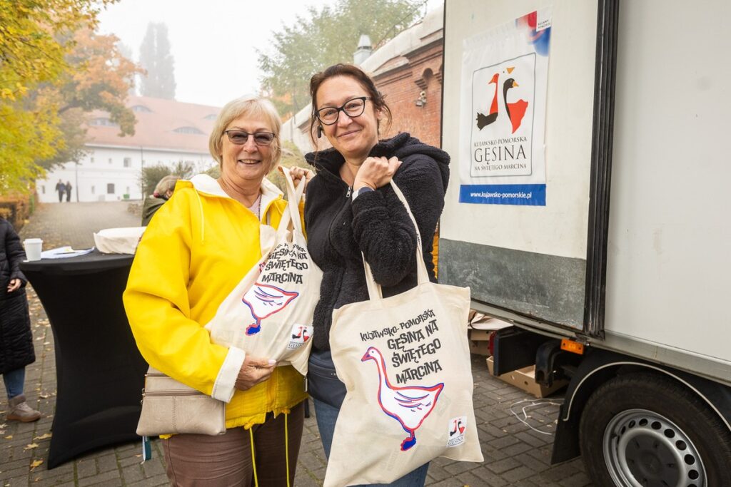
[[[94,245],[93,231],[138,226],[138,218],[127,211],[124,202],[43,204],[20,236],[42,238],[45,249],[60,245],[88,248]],[[26,369],[26,396],[29,404],[43,413],[43,418],[25,424],[4,421],[7,401],[0,383],[0,486],[167,485],[160,440],[153,442],[154,457],[144,464],[140,464],[140,444],[130,443],[102,448],[55,469],[46,469],[42,462],[48,456],[56,404],[56,362],[50,323],[31,288],[29,303],[37,361]],[[471,358],[475,415],[485,461],[432,461],[427,485],[590,486],[580,459],[549,464],[550,432],[555,427],[561,397],[537,402],[520,389],[491,377],[485,357]],[[523,408],[527,408],[526,417]],[[313,412],[313,417],[305,420],[295,486],[321,486],[325,465]]]

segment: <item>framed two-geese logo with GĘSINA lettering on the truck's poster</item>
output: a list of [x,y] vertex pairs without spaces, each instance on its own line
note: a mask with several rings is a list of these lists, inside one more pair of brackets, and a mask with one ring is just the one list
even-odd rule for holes
[[473,73],[473,177],[531,174],[535,53]]

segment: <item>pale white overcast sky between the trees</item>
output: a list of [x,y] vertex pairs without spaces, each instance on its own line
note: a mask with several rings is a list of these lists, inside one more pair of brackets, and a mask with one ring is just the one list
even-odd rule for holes
[[[102,10],[99,31],[115,34],[137,61],[149,22],[167,24],[175,58],[175,99],[221,107],[255,93],[257,49],[308,7],[336,0],[121,0]],[[428,9],[441,4],[429,0]],[[355,39],[353,42],[355,42]]]

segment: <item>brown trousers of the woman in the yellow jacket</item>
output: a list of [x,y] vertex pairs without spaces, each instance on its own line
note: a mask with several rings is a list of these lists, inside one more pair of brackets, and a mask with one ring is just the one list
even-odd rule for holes
[[[304,425],[304,402],[287,417],[289,486],[295,485],[295,468]],[[254,460],[261,487],[286,487],[284,415],[268,413],[266,421],[251,428]],[[248,429],[232,428],[225,434],[176,434],[162,440],[167,478],[180,487],[250,487],[254,485],[251,437]]]

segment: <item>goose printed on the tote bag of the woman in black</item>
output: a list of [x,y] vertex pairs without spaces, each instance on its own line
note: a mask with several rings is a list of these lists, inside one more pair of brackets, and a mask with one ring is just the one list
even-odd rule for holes
[[393,386],[386,375],[386,361],[380,350],[370,347],[360,361],[373,360],[378,367],[378,403],[384,413],[401,423],[401,427],[409,434],[401,442],[401,451],[409,450],[416,445],[414,432],[431,413],[442,393],[444,383],[435,386]]

